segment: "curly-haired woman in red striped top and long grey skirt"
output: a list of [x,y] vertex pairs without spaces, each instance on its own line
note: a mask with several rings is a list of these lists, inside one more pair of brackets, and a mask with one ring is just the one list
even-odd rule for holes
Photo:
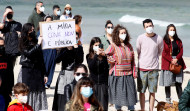
[[115,104],[117,111],[122,106],[128,106],[128,110],[134,110],[137,103],[134,51],[129,43],[130,35],[127,29],[117,25],[112,32],[113,43],[106,50],[107,56],[113,56],[115,61],[108,58],[111,65],[109,70],[109,102]]

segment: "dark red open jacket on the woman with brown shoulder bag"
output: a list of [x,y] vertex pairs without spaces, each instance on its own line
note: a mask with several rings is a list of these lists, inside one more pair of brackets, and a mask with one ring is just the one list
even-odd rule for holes
[[[172,56],[170,55],[170,47],[168,47],[168,45],[165,43],[165,41],[163,43],[164,43],[164,49],[162,52],[162,70],[169,70],[169,66],[172,61]],[[182,68],[184,70],[186,68],[186,65],[182,58],[183,44],[182,44],[182,41],[180,41],[180,40],[176,40],[176,43],[177,43],[179,51],[180,51],[176,58],[178,59],[178,61],[180,63],[182,63]],[[172,44],[171,44],[171,46],[172,46]]]

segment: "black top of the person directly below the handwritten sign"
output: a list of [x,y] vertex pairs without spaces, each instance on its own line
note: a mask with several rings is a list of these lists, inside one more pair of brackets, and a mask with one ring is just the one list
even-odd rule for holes
[[56,63],[62,61],[62,70],[73,70],[75,65],[83,62],[83,56],[83,47],[80,45],[78,48],[73,48],[72,50],[63,48],[56,57]]

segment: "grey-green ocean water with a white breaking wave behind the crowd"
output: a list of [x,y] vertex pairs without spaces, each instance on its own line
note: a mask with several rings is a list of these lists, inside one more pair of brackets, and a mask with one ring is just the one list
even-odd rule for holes
[[[14,19],[22,24],[27,22],[37,0],[0,0],[0,20],[4,8],[11,5]],[[92,37],[105,34],[105,23],[111,20],[114,25],[125,26],[130,33],[131,43],[135,49],[138,35],[144,33],[142,21],[151,18],[155,32],[163,36],[167,25],[173,23],[183,42],[184,56],[190,57],[190,1],[189,0],[42,0],[45,14],[52,14],[54,4],[71,4],[74,15],[83,17],[82,40],[90,43]]]

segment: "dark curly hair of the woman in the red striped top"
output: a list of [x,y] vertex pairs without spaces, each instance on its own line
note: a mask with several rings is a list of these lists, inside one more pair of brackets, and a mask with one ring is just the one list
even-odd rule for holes
[[126,38],[124,40],[124,44],[127,45],[127,44],[130,44],[129,41],[131,39],[127,29],[125,27],[123,27],[122,25],[117,25],[113,32],[112,32],[112,40],[113,42],[117,45],[117,46],[120,46],[121,45],[121,41],[120,41],[120,38],[119,38],[119,31],[124,29],[126,31]]

